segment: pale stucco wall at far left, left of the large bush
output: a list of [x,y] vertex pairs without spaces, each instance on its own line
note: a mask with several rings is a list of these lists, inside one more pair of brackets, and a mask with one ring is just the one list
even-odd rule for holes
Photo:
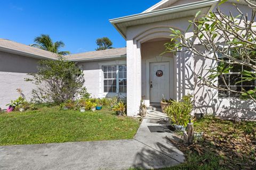
[[35,85],[26,82],[27,73],[37,71],[35,58],[0,52],[0,107],[6,109],[6,104],[17,99],[20,95],[17,89],[22,89],[27,100],[31,98],[31,91]]

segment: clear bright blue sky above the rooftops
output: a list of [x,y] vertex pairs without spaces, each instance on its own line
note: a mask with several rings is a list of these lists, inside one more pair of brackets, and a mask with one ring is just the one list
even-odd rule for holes
[[109,37],[114,47],[125,47],[125,40],[109,19],[146,10],[160,0],[53,1],[5,0],[0,2],[0,38],[32,44],[41,33],[54,41],[62,40],[71,53],[96,48],[95,40]]

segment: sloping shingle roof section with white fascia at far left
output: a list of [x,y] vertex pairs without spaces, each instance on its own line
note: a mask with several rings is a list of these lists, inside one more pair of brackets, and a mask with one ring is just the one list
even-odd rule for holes
[[57,59],[58,55],[43,49],[16,43],[7,39],[0,39],[0,50],[13,54],[25,55],[39,59]]

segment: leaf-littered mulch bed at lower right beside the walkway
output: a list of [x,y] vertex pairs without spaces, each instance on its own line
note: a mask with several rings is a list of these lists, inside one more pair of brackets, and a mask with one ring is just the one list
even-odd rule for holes
[[[187,156],[213,153],[219,165],[227,169],[256,169],[256,122],[224,121],[206,117],[195,122],[195,131],[204,132],[203,139],[191,146],[171,140]],[[211,160],[204,159],[201,164]]]

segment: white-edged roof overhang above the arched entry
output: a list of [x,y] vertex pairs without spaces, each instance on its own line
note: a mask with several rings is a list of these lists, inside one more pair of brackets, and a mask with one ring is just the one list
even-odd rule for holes
[[[117,29],[119,33],[126,39],[127,27],[134,25],[152,23],[157,21],[165,21],[176,18],[183,18],[186,16],[193,16],[198,11],[203,11],[201,15],[206,15],[211,11],[219,0],[205,0],[195,3],[189,3],[179,6],[164,8],[135,15],[124,16],[121,18],[109,20],[111,24]],[[185,12],[186,11],[186,12]],[[172,14],[172,15],[170,15]],[[162,16],[162,17],[161,17]]]

